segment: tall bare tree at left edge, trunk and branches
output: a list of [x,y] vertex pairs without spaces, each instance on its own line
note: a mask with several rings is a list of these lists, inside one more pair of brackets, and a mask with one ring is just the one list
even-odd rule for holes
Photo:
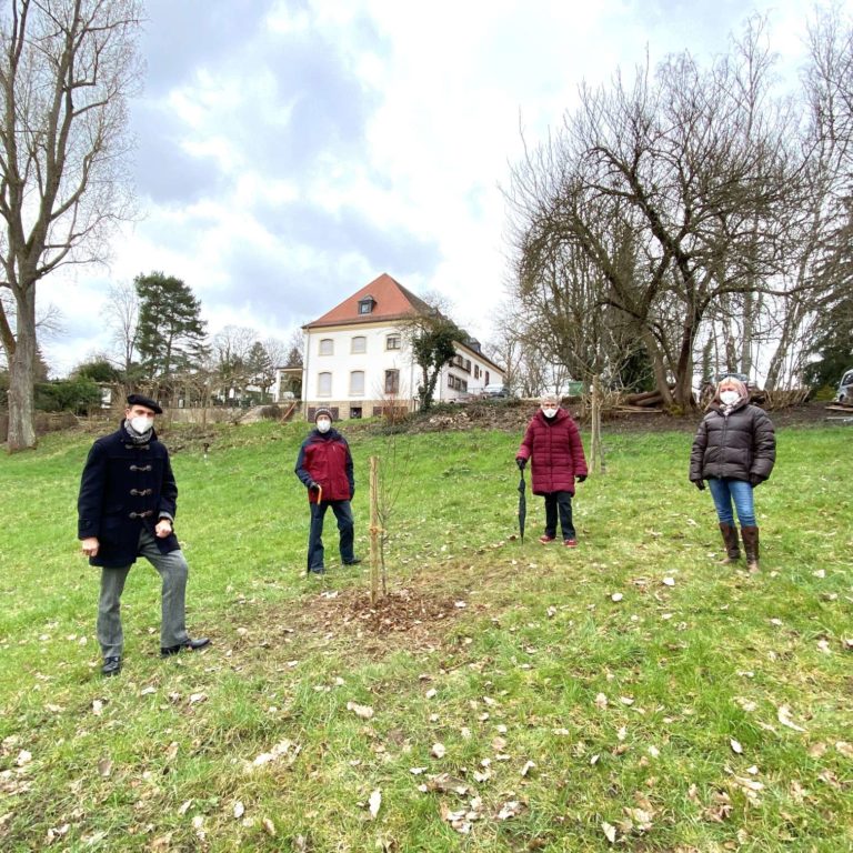
[[138,88],[139,0],[11,0],[0,11],[0,339],[10,452],[36,446],[36,289],[100,260],[130,212],[127,100]]

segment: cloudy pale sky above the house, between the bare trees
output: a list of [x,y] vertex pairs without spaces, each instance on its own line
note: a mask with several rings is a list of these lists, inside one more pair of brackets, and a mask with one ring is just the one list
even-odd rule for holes
[[41,287],[62,312],[52,374],[110,349],[109,285],[152,271],[192,289],[211,333],[287,339],[388,272],[488,341],[521,129],[535,144],[582,81],[646,50],[724,52],[754,11],[796,74],[802,0],[147,0],[142,218],[109,269]]

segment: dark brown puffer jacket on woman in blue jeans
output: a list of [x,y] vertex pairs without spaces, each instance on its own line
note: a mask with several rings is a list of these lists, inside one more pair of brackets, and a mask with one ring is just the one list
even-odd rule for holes
[[776,461],[776,436],[766,412],[743,401],[727,415],[712,403],[690,454],[690,480],[744,480],[756,485]]

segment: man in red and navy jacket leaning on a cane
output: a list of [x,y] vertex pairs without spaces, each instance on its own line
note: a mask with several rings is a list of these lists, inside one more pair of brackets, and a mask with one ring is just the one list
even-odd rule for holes
[[330,506],[338,520],[341,562],[344,565],[354,565],[361,560],[353,551],[355,524],[350,501],[355,494],[355,478],[350,445],[338,430],[332,429],[330,409],[318,409],[314,413],[314,423],[315,429],[299,449],[295,473],[308,489],[308,502],[311,508],[308,571],[322,574],[325,571],[323,518]]

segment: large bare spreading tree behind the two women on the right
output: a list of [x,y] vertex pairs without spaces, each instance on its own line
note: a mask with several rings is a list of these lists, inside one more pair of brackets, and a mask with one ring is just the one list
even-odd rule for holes
[[[632,84],[616,74],[609,88],[582,87],[580,109],[513,174],[516,238],[534,238],[516,240],[521,268],[542,247],[573,265],[580,250],[592,302],[633,325],[658,390],[679,408],[693,402],[694,351],[721,300],[779,289],[781,214],[797,210],[801,183],[771,69],[752,22],[706,71],[684,53],[638,69]],[[552,265],[532,264],[540,287]],[[570,281],[578,272],[561,287]]]

